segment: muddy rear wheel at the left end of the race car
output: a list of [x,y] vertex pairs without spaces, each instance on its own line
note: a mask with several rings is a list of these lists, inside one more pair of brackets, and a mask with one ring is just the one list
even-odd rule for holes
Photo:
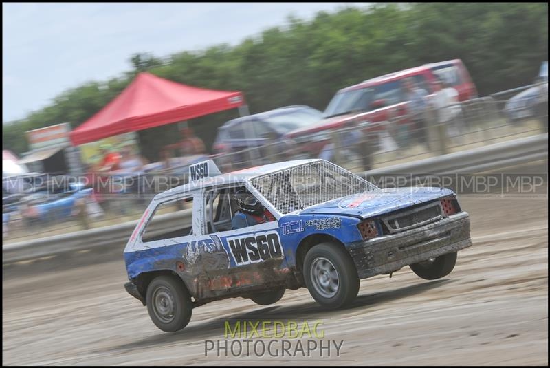
[[151,321],[164,332],[179,331],[191,319],[191,296],[183,282],[175,277],[153,279],[147,288],[146,304]]

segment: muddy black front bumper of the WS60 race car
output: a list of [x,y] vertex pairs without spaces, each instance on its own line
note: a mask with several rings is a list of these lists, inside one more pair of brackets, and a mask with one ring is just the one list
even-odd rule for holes
[[469,246],[470,217],[461,212],[399,234],[351,243],[347,249],[359,278],[366,279]]

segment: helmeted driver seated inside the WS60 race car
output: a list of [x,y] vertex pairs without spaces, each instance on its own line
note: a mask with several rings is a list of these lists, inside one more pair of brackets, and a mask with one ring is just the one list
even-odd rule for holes
[[239,210],[236,211],[232,220],[233,230],[275,221],[270,211],[265,209],[260,201],[245,188],[236,191],[235,199]]

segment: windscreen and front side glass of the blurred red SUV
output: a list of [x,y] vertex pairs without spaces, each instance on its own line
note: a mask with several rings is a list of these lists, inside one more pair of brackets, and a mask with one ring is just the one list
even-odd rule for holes
[[371,111],[372,103],[376,100],[384,100],[385,106],[403,102],[403,89],[401,80],[382,83],[372,87],[353,89],[339,92],[333,97],[325,113],[325,118],[338,116],[352,111]]

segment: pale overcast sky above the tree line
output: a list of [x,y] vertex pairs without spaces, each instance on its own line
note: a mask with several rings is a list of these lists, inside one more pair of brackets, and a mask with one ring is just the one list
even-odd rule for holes
[[[348,3],[366,6],[366,3]],[[136,52],[168,56],[235,45],[294,14],[344,3],[3,3],[2,120],[25,117],[65,89],[130,69]],[[54,123],[54,122],[52,122]]]

